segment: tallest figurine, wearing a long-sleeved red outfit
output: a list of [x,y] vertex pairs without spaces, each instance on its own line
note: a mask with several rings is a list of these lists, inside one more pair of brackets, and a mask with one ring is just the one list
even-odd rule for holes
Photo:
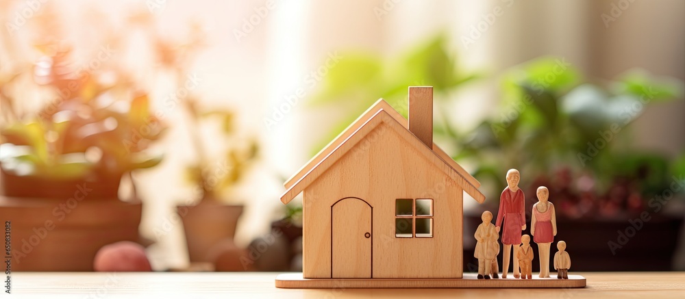
[[[519,170],[510,169],[507,172],[507,187],[499,197],[499,212],[497,212],[495,229],[497,233],[502,231],[502,244],[504,244],[502,278],[507,278],[507,272],[509,272],[512,245],[514,246],[514,278],[519,278],[521,275],[519,259],[516,259],[516,252],[519,251],[519,244],[521,244],[521,231],[525,229],[525,197],[523,190],[519,188],[520,179]],[[502,229],[501,226],[503,226]]]

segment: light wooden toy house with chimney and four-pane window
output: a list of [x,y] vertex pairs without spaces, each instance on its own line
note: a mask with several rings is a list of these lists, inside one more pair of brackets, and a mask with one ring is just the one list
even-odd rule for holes
[[433,89],[409,120],[366,110],[286,183],[303,193],[303,278],[462,278],[463,192],[479,183],[433,143]]

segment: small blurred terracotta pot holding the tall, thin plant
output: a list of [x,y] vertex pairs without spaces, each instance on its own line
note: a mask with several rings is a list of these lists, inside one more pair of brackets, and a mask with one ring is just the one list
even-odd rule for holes
[[217,200],[203,200],[194,206],[176,207],[183,220],[188,257],[191,262],[210,261],[212,247],[236,235],[242,205],[225,205]]

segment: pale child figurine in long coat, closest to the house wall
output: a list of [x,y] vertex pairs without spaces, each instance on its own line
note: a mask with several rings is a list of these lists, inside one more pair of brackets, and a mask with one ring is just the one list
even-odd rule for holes
[[499,253],[499,242],[497,242],[499,233],[491,222],[493,213],[484,211],[481,219],[483,223],[478,226],[473,235],[476,239],[473,257],[478,259],[478,279],[490,279],[490,274],[493,278],[499,278],[497,272],[493,272],[493,263]]

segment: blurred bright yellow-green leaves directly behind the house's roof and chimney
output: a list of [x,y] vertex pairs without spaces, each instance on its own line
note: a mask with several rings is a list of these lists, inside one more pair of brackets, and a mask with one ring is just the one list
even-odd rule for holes
[[313,106],[343,105],[349,107],[351,113],[334,125],[332,132],[319,142],[313,153],[319,152],[380,98],[406,117],[408,86],[433,86],[434,99],[447,101],[448,92],[479,77],[459,70],[456,55],[447,51],[447,40],[443,35],[390,60],[374,53],[351,52],[343,57],[335,68],[329,70],[321,92],[309,103]]

